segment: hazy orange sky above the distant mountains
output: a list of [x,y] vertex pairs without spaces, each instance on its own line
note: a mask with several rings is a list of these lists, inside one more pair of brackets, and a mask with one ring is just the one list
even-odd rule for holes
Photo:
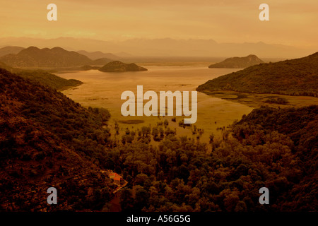
[[[0,37],[201,38],[317,47],[317,0],[0,0]],[[57,4],[57,21],[47,5]],[[269,21],[259,5],[269,4]]]

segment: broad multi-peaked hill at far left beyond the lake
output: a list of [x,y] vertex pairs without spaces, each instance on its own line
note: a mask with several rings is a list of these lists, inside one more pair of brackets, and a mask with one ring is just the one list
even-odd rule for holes
[[68,67],[82,66],[92,62],[91,59],[82,54],[69,52],[60,47],[52,49],[28,47],[18,54],[0,57],[0,61],[13,67]]

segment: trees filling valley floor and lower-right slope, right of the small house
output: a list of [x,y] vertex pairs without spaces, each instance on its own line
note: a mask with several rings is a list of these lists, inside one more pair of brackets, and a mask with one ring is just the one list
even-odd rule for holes
[[[314,211],[318,106],[261,107],[207,144],[175,134],[158,147],[142,141],[108,153],[107,167],[129,182],[124,211]],[[269,206],[259,189],[270,191]]]

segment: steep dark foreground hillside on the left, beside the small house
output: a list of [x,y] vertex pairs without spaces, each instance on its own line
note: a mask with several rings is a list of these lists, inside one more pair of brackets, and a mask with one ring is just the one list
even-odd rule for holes
[[[114,187],[101,172],[106,109],[0,69],[0,210],[100,210]],[[57,188],[58,204],[47,204]]]

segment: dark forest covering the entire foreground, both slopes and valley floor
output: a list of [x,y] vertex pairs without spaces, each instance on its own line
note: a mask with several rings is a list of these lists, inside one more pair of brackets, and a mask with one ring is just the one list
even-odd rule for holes
[[[254,109],[202,143],[167,120],[111,138],[106,109],[4,69],[0,96],[1,210],[107,211],[115,186],[105,169],[128,182],[123,211],[318,209],[318,106]],[[57,206],[46,204],[49,186]],[[270,205],[259,204],[263,186]]]

